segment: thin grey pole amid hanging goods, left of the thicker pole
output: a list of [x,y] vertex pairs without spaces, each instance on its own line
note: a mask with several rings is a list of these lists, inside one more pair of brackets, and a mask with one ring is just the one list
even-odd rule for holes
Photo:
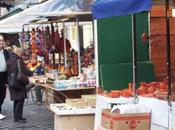
[[64,38],[64,66],[67,67],[67,51],[66,51],[66,27],[65,23],[63,22],[63,35]]

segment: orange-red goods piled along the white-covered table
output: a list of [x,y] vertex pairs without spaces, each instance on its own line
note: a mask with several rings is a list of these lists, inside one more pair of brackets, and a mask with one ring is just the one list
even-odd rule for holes
[[[136,89],[136,93],[139,96],[150,97],[150,98],[158,98],[161,100],[167,100],[168,97],[168,85],[167,82],[141,82],[139,87]],[[118,97],[132,97],[133,94],[133,85],[132,83],[128,84],[127,89],[123,90],[111,90],[110,92],[103,93],[102,95],[118,98]],[[175,87],[172,87],[172,96],[171,99],[175,100]]]

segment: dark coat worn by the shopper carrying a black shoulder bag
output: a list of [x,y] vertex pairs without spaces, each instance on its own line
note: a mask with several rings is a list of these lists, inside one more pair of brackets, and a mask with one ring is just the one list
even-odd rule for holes
[[[9,59],[7,60],[7,76],[18,72],[18,59],[20,60],[21,71],[27,76],[32,76],[32,71],[27,69],[23,60],[15,53],[11,53]],[[9,88],[11,100],[16,101],[27,98],[26,86],[20,84],[18,81],[16,81],[15,85],[21,89],[17,90],[14,88]]]

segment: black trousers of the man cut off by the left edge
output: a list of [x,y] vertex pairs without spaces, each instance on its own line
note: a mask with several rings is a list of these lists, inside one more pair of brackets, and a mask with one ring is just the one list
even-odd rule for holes
[[0,72],[0,113],[2,104],[6,96],[6,86],[5,86],[6,83],[7,83],[7,73]]

